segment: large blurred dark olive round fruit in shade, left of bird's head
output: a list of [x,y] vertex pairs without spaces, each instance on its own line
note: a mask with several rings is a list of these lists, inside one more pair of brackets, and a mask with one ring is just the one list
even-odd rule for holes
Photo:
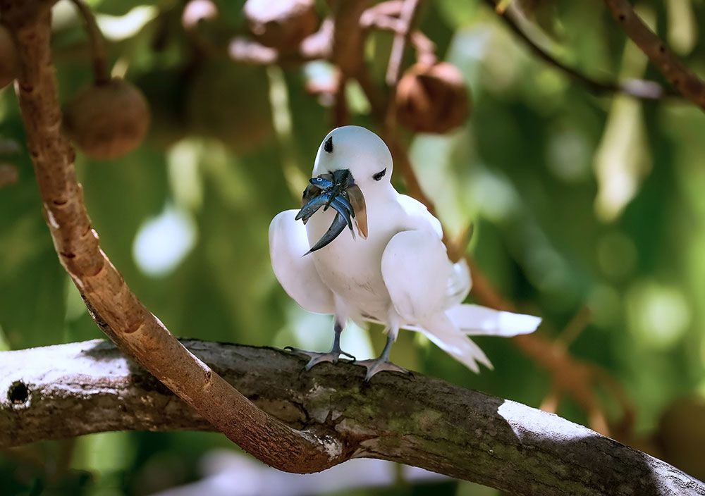
[[195,75],[187,102],[188,123],[197,134],[246,153],[274,134],[265,69],[213,61]]

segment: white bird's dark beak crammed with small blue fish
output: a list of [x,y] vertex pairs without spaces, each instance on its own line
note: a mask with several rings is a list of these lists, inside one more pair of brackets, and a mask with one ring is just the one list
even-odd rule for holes
[[301,210],[296,215],[296,220],[301,219],[303,223],[307,223],[321,207],[324,211],[333,207],[336,217],[323,237],[307,253],[315,252],[333,242],[346,226],[355,236],[353,220],[360,237],[367,237],[367,208],[364,204],[364,196],[348,169],[338,169],[333,173],[318,175],[311,178],[309,183],[304,190]]

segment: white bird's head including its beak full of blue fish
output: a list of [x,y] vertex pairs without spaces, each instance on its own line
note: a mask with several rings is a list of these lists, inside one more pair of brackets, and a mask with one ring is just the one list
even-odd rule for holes
[[391,153],[374,132],[357,125],[346,125],[329,132],[318,149],[313,178],[304,191],[297,218],[306,223],[321,206],[324,209],[332,207],[338,215],[311,251],[335,240],[346,225],[353,230],[353,219],[358,233],[367,237],[364,198],[388,188],[391,174]]

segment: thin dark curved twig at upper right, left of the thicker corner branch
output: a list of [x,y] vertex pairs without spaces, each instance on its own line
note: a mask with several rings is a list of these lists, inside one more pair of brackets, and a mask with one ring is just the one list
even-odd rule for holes
[[[496,1],[485,0],[485,3],[490,6],[493,11],[496,11]],[[519,23],[517,23],[513,9],[508,9],[505,11],[504,15],[500,15],[500,17],[509,29],[515,33],[515,35],[524,40],[534,55],[551,66],[563,71],[563,73],[572,78],[572,80],[580,82],[582,85],[587,87],[589,91],[595,94],[622,93],[630,95],[631,97],[649,100],[678,96],[677,93],[671,91],[670,89],[664,89],[661,85],[654,81],[634,79],[623,82],[611,82],[600,81],[594,79],[593,77],[589,77],[588,75],[581,73],[579,70],[558,61],[558,59],[554,56],[548,54],[548,51],[541,48],[537,42],[534,42],[534,40],[522,30]]]

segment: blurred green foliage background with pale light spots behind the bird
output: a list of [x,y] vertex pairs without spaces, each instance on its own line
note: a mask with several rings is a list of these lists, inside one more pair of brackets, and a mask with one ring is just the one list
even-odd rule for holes
[[[601,80],[662,81],[601,4],[519,3],[532,37],[570,66]],[[298,204],[333,125],[330,98],[310,91],[329,85],[333,68],[243,66],[204,53],[181,25],[180,1],[89,4],[109,40],[113,73],[140,87],[152,107],[149,137],[133,153],[114,161],[78,154],[104,251],[177,335],[328,349],[331,318],[308,314],[283,292],[269,266],[267,229],[278,211]],[[223,32],[246,32],[242,1],[216,4]],[[705,2],[636,5],[705,75]],[[318,7],[325,13],[324,2]],[[564,340],[573,356],[618,381],[637,414],[627,442],[704,477],[703,112],[679,99],[591,94],[537,60],[479,0],[427,1],[419,27],[472,92],[460,128],[401,133],[448,232],[474,223],[468,252],[495,289],[543,316],[541,335]],[[380,86],[391,39],[373,31],[367,41]],[[53,44],[66,101],[92,80],[86,35],[66,0],[54,8]],[[378,130],[360,88],[350,83],[346,97],[351,122]],[[0,350],[102,337],[56,259],[11,87],[0,91],[0,140],[0,162],[18,173],[0,189]],[[575,316],[585,325],[568,325]],[[509,340],[477,341],[495,371],[476,376],[412,333],[400,335],[392,358],[492,395],[544,402],[551,378],[543,368]],[[383,345],[379,328],[343,333],[343,348],[358,359]],[[614,395],[598,393],[618,423]],[[589,422],[570,396],[558,413]],[[284,476],[217,434],[106,433],[0,451],[0,494],[148,495],[180,486],[166,494],[497,494],[364,463]]]

